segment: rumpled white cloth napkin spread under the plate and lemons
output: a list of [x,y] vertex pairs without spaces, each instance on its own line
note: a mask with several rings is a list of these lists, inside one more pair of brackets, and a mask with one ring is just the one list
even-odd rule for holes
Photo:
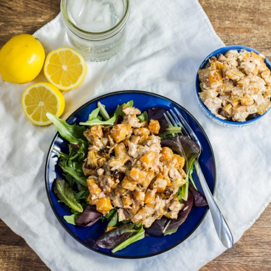
[[[197,0],[131,1],[125,49],[109,61],[88,63],[83,83],[64,92],[66,119],[90,99],[118,90],[144,90],[169,97],[201,123],[217,165],[215,199],[237,241],[271,201],[270,114],[242,129],[219,126],[199,108],[194,81],[202,60],[224,44]],[[34,34],[46,53],[69,45],[58,15]],[[35,82],[44,81],[39,75]],[[54,271],[198,270],[222,253],[208,212],[196,232],[177,247],[138,260],[89,250],[62,228],[49,205],[44,166],[55,127],[37,127],[24,116],[27,85],[0,81],[0,218]]]

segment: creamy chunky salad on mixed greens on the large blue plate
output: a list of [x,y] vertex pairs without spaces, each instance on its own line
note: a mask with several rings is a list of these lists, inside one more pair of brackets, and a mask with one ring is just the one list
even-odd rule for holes
[[69,142],[68,153],[56,150],[64,178],[53,183],[72,213],[64,219],[76,227],[107,221],[95,243],[112,253],[175,233],[193,204],[207,205],[192,177],[199,147],[168,125],[161,107],[140,112],[129,101],[110,117],[97,105],[80,125],[47,114]]

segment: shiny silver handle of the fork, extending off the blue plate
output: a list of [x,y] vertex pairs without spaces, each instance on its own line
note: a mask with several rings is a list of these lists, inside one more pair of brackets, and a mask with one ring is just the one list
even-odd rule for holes
[[222,244],[225,247],[230,248],[234,245],[233,235],[230,231],[230,228],[229,228],[225,218],[223,217],[216,202],[214,201],[213,195],[210,192],[210,189],[207,185],[207,182],[205,180],[205,177],[203,175],[203,171],[199,165],[198,160],[195,161],[195,169],[198,173],[199,180],[200,180],[200,183],[203,188],[203,192],[205,194],[207,203],[208,203],[210,211],[211,211],[211,215],[213,218],[213,223],[214,223],[216,233],[217,233],[219,239],[221,240]]

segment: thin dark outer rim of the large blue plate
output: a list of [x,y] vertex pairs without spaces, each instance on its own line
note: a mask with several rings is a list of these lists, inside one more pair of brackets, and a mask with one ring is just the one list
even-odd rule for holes
[[[123,91],[116,91],[116,92],[110,92],[110,93],[107,93],[107,94],[104,94],[104,95],[101,95],[97,98],[94,98],[92,99],[91,101],[89,102],[86,102],[84,103],[83,105],[81,105],[78,109],[76,109],[72,114],[69,115],[69,117],[66,119],[66,121],[68,121],[70,118],[72,118],[72,116],[74,114],[76,114],[77,112],[79,112],[82,108],[84,108],[85,106],[89,105],[90,103],[93,103],[93,102],[98,102],[100,99],[102,98],[105,98],[105,97],[108,97],[108,96],[112,96],[112,95],[116,95],[116,94],[125,94],[125,93],[133,93],[133,94],[146,94],[146,95],[151,95],[151,96],[154,96],[154,97],[158,97],[158,98],[162,98],[162,99],[165,99],[165,100],[168,100],[169,102],[179,106],[186,114],[189,115],[189,117],[199,126],[201,132],[203,133],[209,147],[210,147],[210,152],[211,152],[211,156],[213,158],[213,192],[212,195],[214,195],[215,193],[215,189],[216,189],[216,165],[215,165],[215,157],[214,157],[214,152],[213,152],[213,149],[212,149],[212,146],[211,146],[211,143],[206,135],[206,133],[204,132],[202,126],[199,124],[199,122],[195,119],[194,116],[191,115],[191,113],[189,113],[183,106],[181,106],[180,104],[178,104],[177,102],[174,102],[172,100],[170,100],[169,98],[166,98],[162,95],[159,95],[159,94],[154,94],[154,93],[150,93],[150,92],[147,92],[147,91],[139,91],[139,90],[123,90]],[[100,250],[96,250],[94,248],[92,248],[91,246],[87,245],[86,243],[84,243],[82,240],[80,240],[80,238],[76,237],[65,225],[65,223],[61,220],[61,217],[58,215],[57,211],[56,211],[56,208],[55,208],[55,205],[53,204],[52,202],[52,199],[50,197],[50,192],[49,192],[49,188],[48,188],[48,185],[47,185],[47,168],[48,168],[48,162],[49,162],[49,156],[51,154],[51,151],[52,151],[52,147],[55,143],[55,140],[56,138],[59,136],[59,132],[56,133],[56,135],[54,136],[51,144],[50,144],[50,147],[49,147],[49,150],[48,150],[48,154],[47,154],[47,157],[46,157],[46,162],[45,162],[45,187],[46,187],[46,193],[47,193],[47,197],[48,197],[48,200],[49,200],[49,203],[51,205],[51,208],[55,214],[55,216],[57,217],[58,221],[60,222],[60,224],[62,225],[62,227],[68,232],[68,234],[73,237],[76,241],[78,241],[79,243],[81,243],[82,245],[84,245],[85,247],[91,249],[92,251],[95,251],[97,253],[100,253],[102,255],[105,255],[105,256],[109,256],[109,257],[113,257],[113,258],[120,258],[120,259],[142,259],[142,258],[148,258],[148,257],[152,257],[152,256],[156,256],[156,255],[159,255],[161,253],[164,253],[172,248],[174,248],[175,246],[179,245],[180,243],[182,243],[184,240],[186,240],[188,237],[190,237],[197,229],[198,227],[201,225],[201,223],[203,222],[203,219],[205,218],[208,210],[209,210],[209,207],[207,206],[205,212],[203,213],[203,216],[202,218],[199,220],[199,222],[197,223],[197,225],[183,238],[181,238],[180,240],[178,240],[176,243],[174,243],[173,245],[163,249],[163,250],[160,250],[156,253],[150,253],[150,254],[146,254],[146,255],[143,255],[143,256],[123,256],[123,255],[116,255],[116,254],[108,254],[106,252],[103,252],[103,251],[100,251]],[[195,170],[194,170],[195,171]],[[189,215],[188,215],[189,216]]]

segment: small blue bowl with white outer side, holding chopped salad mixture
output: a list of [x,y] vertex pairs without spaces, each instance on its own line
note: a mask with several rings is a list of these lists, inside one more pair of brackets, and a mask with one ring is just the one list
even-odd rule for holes
[[[245,49],[247,50],[248,52],[251,52],[253,51],[254,53],[256,54],[260,54],[258,51],[252,49],[252,48],[249,48],[249,47],[246,47],[246,46],[242,46],[242,45],[229,45],[229,46],[225,46],[225,47],[222,47],[220,49],[217,49],[215,51],[213,51],[212,53],[210,53],[207,57],[205,57],[205,59],[203,60],[200,68],[204,68],[205,65],[207,64],[208,60],[211,58],[211,57],[216,57],[217,55],[221,55],[221,54],[225,54],[227,53],[228,51],[230,50],[237,50],[238,52],[241,50],[241,49]],[[267,58],[265,58],[265,64],[266,66],[271,70],[271,63],[269,62],[269,60]],[[200,69],[199,68],[199,69]],[[228,126],[228,127],[243,127],[243,126],[247,126],[247,125],[250,125],[252,123],[255,123],[256,121],[260,120],[262,117],[264,117],[267,112],[270,110],[267,110],[263,115],[259,115],[258,117],[254,118],[254,119],[251,119],[251,120],[248,120],[248,121],[244,121],[244,122],[235,122],[235,121],[229,121],[229,120],[223,120],[223,119],[220,119],[218,118],[217,116],[215,116],[206,106],[205,104],[202,102],[200,96],[199,96],[199,92],[201,92],[201,87],[200,87],[200,80],[199,80],[199,72],[197,72],[197,76],[196,76],[196,96],[197,96],[197,100],[201,106],[201,108],[203,109],[203,112],[213,121],[215,121],[216,123],[220,124],[220,125],[223,125],[223,126]]]

